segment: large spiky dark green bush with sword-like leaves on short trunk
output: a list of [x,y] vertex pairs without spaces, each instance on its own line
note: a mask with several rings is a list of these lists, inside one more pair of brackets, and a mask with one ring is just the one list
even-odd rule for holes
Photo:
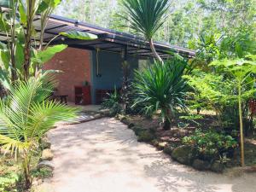
[[164,129],[170,129],[176,108],[186,108],[189,84],[183,79],[183,74],[187,68],[186,61],[175,58],[163,65],[154,63],[143,72],[136,71],[133,83],[136,99],[133,107],[143,106],[143,113],[148,115],[160,110]]

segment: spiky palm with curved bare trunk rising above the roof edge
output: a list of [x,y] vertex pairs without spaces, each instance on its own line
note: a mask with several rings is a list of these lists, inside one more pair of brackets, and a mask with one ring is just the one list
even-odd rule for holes
[[154,48],[154,33],[166,20],[166,12],[170,7],[169,0],[122,0],[125,7],[125,16],[122,16],[131,24],[131,28],[143,34],[150,44],[154,57],[162,62],[160,55]]

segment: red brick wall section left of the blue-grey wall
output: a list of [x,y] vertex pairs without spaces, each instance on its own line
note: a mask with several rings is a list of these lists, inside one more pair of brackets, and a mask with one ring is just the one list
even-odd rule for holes
[[74,102],[74,85],[90,82],[90,51],[67,48],[44,64],[44,69],[61,70],[58,79],[57,94],[68,95],[67,101]]

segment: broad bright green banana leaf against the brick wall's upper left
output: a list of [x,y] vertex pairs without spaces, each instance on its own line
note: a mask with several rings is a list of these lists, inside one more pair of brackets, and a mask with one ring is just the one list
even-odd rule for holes
[[66,48],[67,48],[66,44],[58,44],[52,47],[48,47],[47,49],[39,51],[38,54],[36,55],[36,60],[33,59],[33,61],[44,64],[45,62],[49,61],[52,57],[54,57],[56,53],[59,53]]

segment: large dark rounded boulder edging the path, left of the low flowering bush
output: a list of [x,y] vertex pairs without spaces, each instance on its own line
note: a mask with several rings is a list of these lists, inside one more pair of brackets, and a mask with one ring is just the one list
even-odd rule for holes
[[172,159],[184,165],[191,165],[195,159],[195,150],[188,145],[179,146],[172,150]]

